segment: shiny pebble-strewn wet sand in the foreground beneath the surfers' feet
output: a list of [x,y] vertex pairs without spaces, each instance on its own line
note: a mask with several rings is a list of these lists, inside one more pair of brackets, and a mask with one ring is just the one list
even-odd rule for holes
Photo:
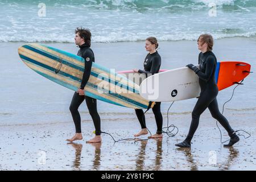
[[[227,114],[233,115],[232,113]],[[147,127],[154,133],[156,126],[147,114]],[[185,138],[191,114],[170,115],[171,123],[179,127],[175,137],[150,139],[134,143],[132,140],[114,143],[102,134],[102,143],[88,144],[93,137],[93,123],[82,122],[84,139],[68,143],[72,137],[73,123],[43,125],[0,126],[1,170],[255,170],[256,150],[255,121],[245,126],[233,121],[236,129],[243,129],[253,137],[241,140],[232,148],[220,144],[220,134],[215,121],[205,114],[193,138],[191,149],[179,149],[175,143]],[[164,116],[164,126],[167,118]],[[115,140],[133,138],[138,131],[136,119],[130,121],[103,121],[102,131],[113,135]],[[222,130],[224,137],[228,139]],[[144,139],[146,137],[139,137]]]

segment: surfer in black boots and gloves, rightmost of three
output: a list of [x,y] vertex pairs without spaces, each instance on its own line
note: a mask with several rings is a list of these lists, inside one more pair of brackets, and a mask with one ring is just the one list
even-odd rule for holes
[[192,111],[192,122],[189,128],[187,138],[178,144],[178,147],[191,147],[191,140],[199,125],[200,115],[205,109],[210,110],[212,117],[217,119],[218,122],[228,132],[230,140],[228,144],[224,144],[224,147],[231,147],[237,143],[240,139],[229,125],[228,120],[220,113],[217,103],[218,87],[215,80],[215,69],[217,65],[217,59],[212,52],[213,38],[211,35],[203,34],[199,36],[197,40],[198,48],[200,49],[199,64],[200,69],[196,68],[193,64],[188,64],[187,67],[192,69],[199,76],[199,85],[201,88],[199,99]]

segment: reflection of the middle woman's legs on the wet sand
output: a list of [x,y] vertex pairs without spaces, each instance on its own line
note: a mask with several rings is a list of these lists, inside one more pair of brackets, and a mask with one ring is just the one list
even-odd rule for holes
[[[155,154],[155,164],[153,166],[153,168],[151,168],[151,170],[155,170],[155,171],[159,171],[161,169],[161,165],[162,165],[162,154],[163,154],[163,150],[162,150],[162,142],[163,139],[162,138],[154,138],[151,140],[155,140],[156,141],[156,154]],[[141,149],[139,150],[139,154],[137,155],[137,160],[136,160],[136,171],[142,171],[145,169],[145,158],[146,158],[146,146],[147,146],[147,142],[148,140],[142,140],[141,141]]]

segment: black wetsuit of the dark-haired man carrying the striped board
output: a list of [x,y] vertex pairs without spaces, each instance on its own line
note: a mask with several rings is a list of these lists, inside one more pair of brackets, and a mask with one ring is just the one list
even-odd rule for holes
[[[79,46],[80,50],[77,53],[78,56],[81,56],[85,60],[85,69],[84,75],[82,76],[81,89],[84,89],[86,83],[90,77],[90,71],[92,69],[92,62],[94,62],[94,53],[88,45],[82,44]],[[75,92],[71,101],[69,110],[71,111],[73,121],[76,127],[76,133],[81,133],[81,117],[78,111],[79,106],[83,101],[86,101],[90,116],[93,119],[94,127],[96,129],[96,135],[101,134],[101,119],[97,111],[97,100],[88,96],[79,96],[79,93]]]

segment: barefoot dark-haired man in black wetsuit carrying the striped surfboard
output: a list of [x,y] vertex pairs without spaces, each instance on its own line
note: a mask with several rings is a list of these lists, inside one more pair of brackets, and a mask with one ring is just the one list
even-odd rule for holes
[[100,115],[98,115],[98,112],[97,112],[97,100],[94,98],[85,96],[84,94],[85,85],[88,82],[90,77],[92,62],[94,62],[94,53],[92,49],[90,49],[90,39],[92,37],[92,34],[90,33],[89,29],[84,29],[84,28],[77,28],[75,30],[75,34],[76,34],[75,43],[80,48],[77,55],[84,58],[85,69],[84,69],[84,74],[82,76],[80,88],[78,88],[77,91],[74,93],[71,101],[71,105],[69,107],[69,110],[71,111],[71,114],[72,114],[73,121],[75,123],[76,134],[71,139],[67,139],[67,141],[73,142],[74,140],[82,139],[81,118],[80,118],[78,108],[82,104],[82,102],[85,100],[90,116],[93,119],[94,127],[96,129],[95,130],[96,136],[93,139],[88,140],[87,142],[97,143],[97,142],[101,142],[101,119],[100,119]]

